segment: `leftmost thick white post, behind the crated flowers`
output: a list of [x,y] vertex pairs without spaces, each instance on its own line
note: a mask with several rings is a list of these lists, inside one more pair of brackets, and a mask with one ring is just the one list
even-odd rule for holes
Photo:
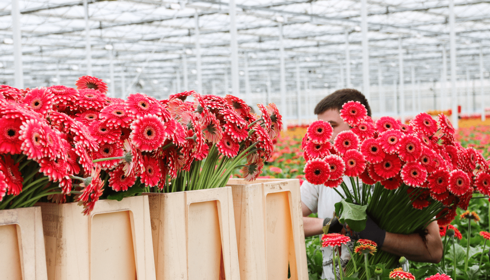
[[22,68],[21,13],[19,0],[12,0],[12,39],[14,41],[14,85],[24,89],[24,71]]

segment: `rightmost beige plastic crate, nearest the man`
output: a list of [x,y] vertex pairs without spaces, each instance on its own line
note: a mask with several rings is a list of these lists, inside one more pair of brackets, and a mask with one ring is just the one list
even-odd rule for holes
[[241,280],[308,280],[297,179],[230,179]]

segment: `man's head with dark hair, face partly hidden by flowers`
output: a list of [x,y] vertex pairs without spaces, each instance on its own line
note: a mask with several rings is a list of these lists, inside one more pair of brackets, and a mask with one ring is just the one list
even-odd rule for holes
[[344,130],[349,130],[350,127],[347,123],[343,122],[340,117],[340,110],[342,105],[348,101],[359,101],[368,110],[368,116],[371,117],[371,108],[369,107],[368,99],[364,94],[353,89],[342,89],[335,91],[332,94],[327,95],[315,107],[315,115],[318,119],[329,122],[334,129],[332,134],[332,140],[335,139],[337,134]]

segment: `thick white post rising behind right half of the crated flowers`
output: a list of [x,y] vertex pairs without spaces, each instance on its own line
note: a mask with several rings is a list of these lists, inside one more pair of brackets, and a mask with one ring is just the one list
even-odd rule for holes
[[232,94],[240,96],[240,77],[238,74],[238,40],[235,0],[229,1],[230,15],[230,51],[231,51],[231,89]]

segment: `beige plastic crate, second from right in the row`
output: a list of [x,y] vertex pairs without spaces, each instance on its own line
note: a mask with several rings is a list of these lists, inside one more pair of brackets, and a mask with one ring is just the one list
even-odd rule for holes
[[239,280],[230,187],[147,193],[157,280]]

